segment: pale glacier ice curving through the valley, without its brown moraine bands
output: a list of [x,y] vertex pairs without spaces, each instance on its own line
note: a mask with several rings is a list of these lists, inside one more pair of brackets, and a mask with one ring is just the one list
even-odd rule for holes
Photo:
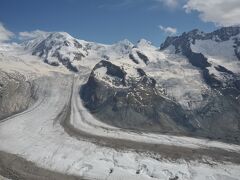
[[[40,77],[36,79],[40,89],[38,90],[39,99],[36,104],[27,111],[20,113],[14,117],[6,119],[0,124],[0,150],[9,153],[17,154],[24,159],[34,162],[36,165],[64,174],[73,174],[84,177],[86,179],[163,179],[178,177],[180,180],[201,180],[220,178],[238,179],[239,166],[232,163],[218,163],[211,161],[205,157],[207,163],[197,161],[185,161],[179,159],[173,161],[168,158],[163,158],[161,155],[156,157],[150,156],[149,153],[136,153],[134,151],[121,151],[108,147],[102,147],[86,140],[76,139],[70,136],[60,124],[59,118],[61,113],[65,112],[65,107],[69,103],[71,97],[72,76],[62,74],[61,70],[51,73],[54,67],[39,65],[39,68],[45,67],[48,73],[39,74],[31,66],[24,64],[26,61],[31,61],[29,57],[20,59],[22,68]],[[5,57],[3,61],[14,64],[12,57],[10,60]],[[32,62],[33,63],[33,62]],[[30,63],[30,64],[32,64]],[[33,63],[34,66],[34,63]],[[4,66],[5,70],[18,71],[18,67]],[[49,69],[48,69],[49,68]],[[25,75],[25,72],[21,72]],[[83,74],[82,74],[83,75]],[[83,76],[79,77],[82,81]],[[74,94],[78,94],[78,86],[81,85],[78,81],[73,86]],[[76,88],[76,89],[75,89]],[[75,96],[74,96],[75,97]],[[78,98],[72,98],[74,101],[71,121],[85,122],[84,126],[92,133],[95,132],[94,126],[88,126],[89,123],[97,121],[96,119],[87,118],[91,116],[83,106],[79,110],[80,103]],[[48,112],[48,113],[46,113]],[[83,112],[83,116],[79,116],[76,112]],[[75,117],[76,116],[76,117]],[[64,117],[64,115],[63,115]],[[79,121],[81,118],[81,121]],[[98,121],[97,121],[98,122]],[[179,143],[188,147],[191,146],[192,139],[171,137],[171,136],[156,136],[136,133],[122,132],[121,130],[113,131],[109,129],[109,133],[104,132],[99,124],[94,123],[96,134],[100,136],[115,136],[119,138],[130,138],[140,142],[159,142],[163,141],[167,144]],[[84,127],[83,126],[83,127]],[[103,125],[105,128],[107,126]],[[89,129],[90,128],[90,129]],[[106,129],[105,129],[106,131]],[[113,132],[111,132],[113,131]],[[96,137],[98,138],[98,137]],[[160,139],[158,139],[160,138]],[[176,139],[175,139],[176,138]],[[161,140],[162,139],[162,140]],[[161,141],[160,141],[161,140]],[[182,143],[181,143],[182,142]],[[205,146],[206,141],[194,140],[193,147],[199,148]],[[230,151],[238,151],[239,146],[224,145],[217,142],[208,144],[210,147],[220,147],[229,149]],[[17,159],[15,159],[17,161]],[[13,162],[12,162],[13,163]],[[213,163],[209,165],[208,163]]]

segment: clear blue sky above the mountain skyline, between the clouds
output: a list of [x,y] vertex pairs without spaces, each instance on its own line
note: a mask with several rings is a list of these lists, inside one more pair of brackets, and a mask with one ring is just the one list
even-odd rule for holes
[[194,28],[216,29],[216,21],[199,18],[206,12],[196,10],[196,4],[190,4],[192,11],[186,13],[187,1],[197,0],[0,0],[0,22],[15,36],[39,29],[66,31],[79,39],[107,44],[145,38],[159,46],[174,34],[167,27],[175,28],[176,34]]

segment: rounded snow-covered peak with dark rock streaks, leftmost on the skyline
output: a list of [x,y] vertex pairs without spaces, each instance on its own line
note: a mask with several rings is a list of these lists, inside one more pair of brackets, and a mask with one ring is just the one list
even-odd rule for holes
[[50,65],[59,66],[61,63],[75,72],[77,68],[72,62],[81,60],[88,53],[80,41],[65,32],[48,33],[46,36],[24,42],[22,46]]

